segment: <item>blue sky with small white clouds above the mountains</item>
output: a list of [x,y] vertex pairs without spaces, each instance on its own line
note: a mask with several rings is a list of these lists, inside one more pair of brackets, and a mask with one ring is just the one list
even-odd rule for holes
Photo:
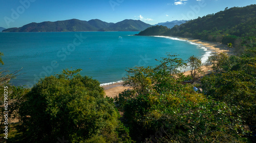
[[255,0],[0,0],[0,27],[21,27],[31,22],[100,19],[119,22],[141,20],[148,24],[190,20],[244,7]]

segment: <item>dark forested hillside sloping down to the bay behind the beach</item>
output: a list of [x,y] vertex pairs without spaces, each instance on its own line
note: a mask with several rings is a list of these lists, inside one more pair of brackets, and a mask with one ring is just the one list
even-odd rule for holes
[[[163,30],[164,29],[164,30]],[[160,32],[159,32],[160,31]],[[225,9],[176,25],[172,29],[153,26],[138,35],[180,36],[223,44],[232,43],[237,52],[255,47],[256,5]]]

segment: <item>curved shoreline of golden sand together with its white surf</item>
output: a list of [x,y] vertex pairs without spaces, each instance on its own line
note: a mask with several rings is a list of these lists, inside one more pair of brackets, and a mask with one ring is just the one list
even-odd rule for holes
[[[208,54],[210,54],[212,52],[216,52],[216,53],[221,53],[221,52],[227,53],[228,52],[227,46],[224,44],[220,44],[220,43],[203,41],[203,40],[198,40],[198,39],[193,39],[193,38],[169,37],[169,36],[155,36],[155,37],[162,37],[162,38],[168,38],[168,39],[179,40],[179,41],[187,41],[187,42],[191,42],[190,44],[196,43],[196,44],[201,45],[202,48],[206,48],[207,51],[209,50],[210,52]],[[232,53],[232,49],[230,50],[230,53]],[[206,58],[206,57],[203,56],[203,58]],[[208,56],[207,56],[207,58],[208,58]],[[202,70],[204,71],[205,74],[208,74],[211,72],[211,70],[209,68],[207,68],[206,66],[202,66]],[[184,73],[184,75],[189,75],[190,70],[187,70],[187,71],[185,70],[185,72],[183,72],[183,73]],[[101,84],[101,87],[104,89],[105,96],[114,98],[119,93],[130,88],[130,87],[123,87],[122,83],[123,83],[122,81],[117,81],[117,82]]]

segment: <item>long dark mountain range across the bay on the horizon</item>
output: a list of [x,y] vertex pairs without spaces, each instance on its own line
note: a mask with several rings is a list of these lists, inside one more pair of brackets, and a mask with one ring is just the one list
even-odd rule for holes
[[150,26],[140,20],[131,19],[117,23],[108,23],[99,19],[89,21],[70,19],[55,22],[33,22],[19,28],[8,28],[3,32],[142,31]]

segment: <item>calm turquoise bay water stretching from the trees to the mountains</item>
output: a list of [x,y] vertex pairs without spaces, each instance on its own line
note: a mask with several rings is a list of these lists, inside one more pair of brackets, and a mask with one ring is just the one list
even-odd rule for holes
[[203,58],[208,52],[185,40],[134,34],[138,32],[0,33],[2,69],[23,68],[12,83],[29,87],[71,67],[109,83],[121,80],[127,68],[159,64],[155,59],[166,52],[178,53],[184,60],[191,55]]

